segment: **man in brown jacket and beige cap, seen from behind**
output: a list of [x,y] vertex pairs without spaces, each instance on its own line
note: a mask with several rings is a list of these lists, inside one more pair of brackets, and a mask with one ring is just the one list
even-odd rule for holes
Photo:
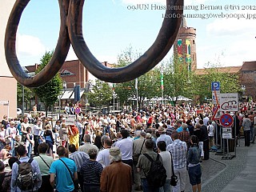
[[101,192],[130,192],[132,190],[131,167],[122,162],[122,153],[118,147],[110,148],[110,166],[106,166],[101,175]]

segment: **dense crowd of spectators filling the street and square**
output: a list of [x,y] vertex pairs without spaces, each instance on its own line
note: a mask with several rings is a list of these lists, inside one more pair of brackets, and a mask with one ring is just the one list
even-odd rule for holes
[[[74,107],[72,105],[71,107]],[[164,191],[182,192],[189,175],[193,191],[201,191],[201,162],[210,158],[221,140],[221,125],[213,121],[212,106],[154,105],[129,113],[76,115],[55,123],[35,116],[3,117],[0,130],[0,191]],[[254,143],[254,103],[242,103],[234,116],[233,134],[244,134],[245,145]],[[75,113],[74,113],[75,114]],[[216,134],[217,133],[217,134]],[[235,138],[235,136],[234,136]],[[160,155],[160,158],[158,157]],[[151,161],[159,158],[166,169],[163,186],[148,182]],[[31,160],[32,159],[32,160]],[[34,174],[31,188],[18,183],[20,163],[30,162]],[[10,167],[6,172],[5,167]],[[172,170],[173,166],[173,170]],[[170,185],[173,175],[176,186]]]

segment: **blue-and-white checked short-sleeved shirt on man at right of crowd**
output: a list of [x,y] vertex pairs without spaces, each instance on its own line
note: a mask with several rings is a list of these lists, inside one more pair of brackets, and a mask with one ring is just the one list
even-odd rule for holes
[[174,168],[182,169],[186,167],[186,142],[175,139],[174,142],[166,147],[166,150],[172,154]]

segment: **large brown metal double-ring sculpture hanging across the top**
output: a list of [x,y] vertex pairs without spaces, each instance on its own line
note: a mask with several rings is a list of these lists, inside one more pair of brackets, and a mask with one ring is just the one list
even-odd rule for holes
[[[152,46],[140,58],[129,66],[121,68],[108,68],[91,54],[82,35],[82,7],[85,0],[58,0],[60,8],[61,25],[58,43],[54,55],[46,67],[35,76],[30,77],[20,66],[16,54],[16,33],[22,11],[30,0],[17,0],[6,26],[5,50],[6,62],[10,72],[24,86],[42,86],[50,81],[61,69],[66,55],[70,49],[70,42],[75,54],[87,70],[96,78],[106,82],[127,82],[145,74],[158,64],[166,56],[174,44],[182,21],[182,10],[166,9],[166,15],[173,16],[163,19],[158,37]],[[183,6],[183,0],[166,0],[166,7]],[[174,17],[176,16],[176,17]]]

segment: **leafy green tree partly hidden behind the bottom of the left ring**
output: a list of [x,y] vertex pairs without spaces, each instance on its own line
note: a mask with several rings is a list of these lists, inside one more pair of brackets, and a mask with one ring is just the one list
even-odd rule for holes
[[[40,66],[35,71],[35,74],[38,74],[47,65],[47,63],[50,62],[50,58],[52,58],[52,56],[53,51],[46,51],[46,54],[44,54],[40,60]],[[43,86],[34,88],[35,94],[38,95],[38,98],[46,107],[46,116],[50,106],[53,106],[54,103],[58,101],[58,96],[60,95],[61,90],[62,78],[60,77],[59,73],[56,74],[54,78],[50,80],[50,82],[47,82]]]

